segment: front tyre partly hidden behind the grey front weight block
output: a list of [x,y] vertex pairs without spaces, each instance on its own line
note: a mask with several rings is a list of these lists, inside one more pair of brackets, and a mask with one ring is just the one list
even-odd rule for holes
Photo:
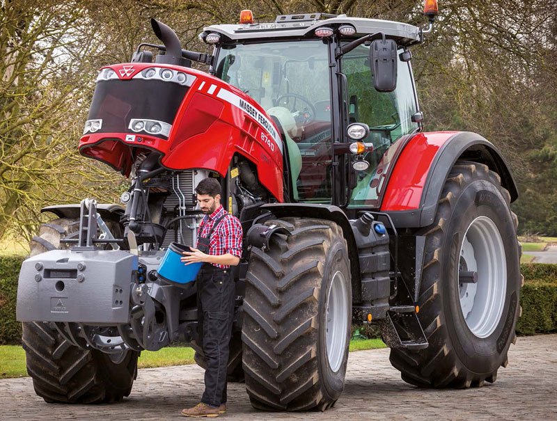
[[[115,237],[120,225],[107,221]],[[74,237],[79,221],[56,219],[40,227],[40,235],[31,241],[31,255],[56,248],[63,237]],[[37,395],[49,403],[100,404],[120,402],[130,395],[137,375],[139,352],[127,351],[116,362],[108,354],[75,347],[58,333],[53,324],[23,323],[22,344],[27,372]]]

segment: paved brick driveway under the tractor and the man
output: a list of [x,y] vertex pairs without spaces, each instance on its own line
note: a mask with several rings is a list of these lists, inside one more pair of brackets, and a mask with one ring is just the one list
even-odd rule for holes
[[[557,335],[519,337],[510,364],[479,389],[423,390],[407,385],[389,363],[389,350],[350,354],[346,388],[325,413],[255,411],[242,384],[229,386],[223,420],[557,420]],[[198,402],[203,370],[196,365],[139,370],[122,404],[45,404],[32,381],[0,380],[0,420],[171,420]],[[181,418],[184,420],[185,418]],[[220,418],[219,418],[220,419]]]

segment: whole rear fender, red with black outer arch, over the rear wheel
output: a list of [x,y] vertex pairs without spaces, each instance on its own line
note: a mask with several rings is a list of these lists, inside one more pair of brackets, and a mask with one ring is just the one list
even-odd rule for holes
[[458,159],[485,164],[501,184],[518,197],[517,186],[501,152],[479,134],[432,132],[416,134],[400,153],[387,184],[381,211],[397,228],[431,225],[445,180]]

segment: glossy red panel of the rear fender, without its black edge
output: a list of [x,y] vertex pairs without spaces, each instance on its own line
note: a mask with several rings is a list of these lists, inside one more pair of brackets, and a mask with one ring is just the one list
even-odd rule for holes
[[441,147],[457,132],[418,133],[400,152],[381,205],[384,211],[418,209],[425,180]]

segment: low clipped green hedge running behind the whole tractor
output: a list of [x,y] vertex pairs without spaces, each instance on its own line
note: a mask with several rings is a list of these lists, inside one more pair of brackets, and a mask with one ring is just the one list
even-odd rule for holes
[[[21,324],[15,321],[17,278],[24,257],[0,256],[0,344],[18,344]],[[557,332],[557,264],[521,264],[526,283],[521,289],[519,335]],[[377,328],[353,326],[354,337],[377,337]]]

